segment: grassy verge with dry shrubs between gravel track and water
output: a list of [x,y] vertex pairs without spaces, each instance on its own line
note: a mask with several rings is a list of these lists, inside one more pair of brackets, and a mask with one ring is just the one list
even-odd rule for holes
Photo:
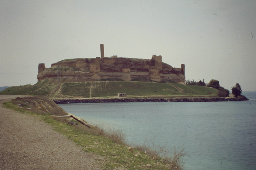
[[[125,144],[125,138],[122,132],[105,132],[97,127],[88,128],[82,124],[77,126],[68,125],[69,120],[66,117],[52,117],[50,115],[31,112],[25,104],[17,105],[18,102],[24,103],[22,98],[16,101],[3,103],[4,107],[20,111],[25,114],[37,116],[52,125],[54,129],[70,140],[73,140],[83,148],[85,152],[94,153],[103,156],[100,160],[102,167],[106,170],[182,170],[183,169],[183,150],[173,150],[170,155],[165,150],[155,151],[148,145],[129,148]],[[15,104],[14,104],[15,103]],[[75,120],[73,120],[75,122]]]

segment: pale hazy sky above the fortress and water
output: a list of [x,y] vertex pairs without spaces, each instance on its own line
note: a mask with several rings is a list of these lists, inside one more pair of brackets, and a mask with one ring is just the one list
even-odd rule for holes
[[0,0],[0,86],[35,84],[39,63],[95,58],[100,44],[256,91],[256,0]]

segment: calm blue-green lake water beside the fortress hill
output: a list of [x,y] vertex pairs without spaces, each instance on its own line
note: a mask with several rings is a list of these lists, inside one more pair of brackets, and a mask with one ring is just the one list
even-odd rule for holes
[[61,104],[129,143],[185,148],[185,170],[256,170],[256,92],[240,102]]

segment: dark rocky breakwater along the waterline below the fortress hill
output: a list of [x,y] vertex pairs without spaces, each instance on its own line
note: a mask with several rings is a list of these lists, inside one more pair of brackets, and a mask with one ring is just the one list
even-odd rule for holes
[[60,99],[53,100],[56,104],[72,103],[113,103],[113,102],[224,102],[224,101],[247,101],[245,96],[239,98],[112,98],[112,99]]

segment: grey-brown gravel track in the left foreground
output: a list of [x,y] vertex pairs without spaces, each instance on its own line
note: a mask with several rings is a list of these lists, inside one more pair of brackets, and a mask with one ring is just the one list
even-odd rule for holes
[[15,97],[0,95],[0,170],[101,170],[103,157],[82,151],[37,117],[2,107]]

